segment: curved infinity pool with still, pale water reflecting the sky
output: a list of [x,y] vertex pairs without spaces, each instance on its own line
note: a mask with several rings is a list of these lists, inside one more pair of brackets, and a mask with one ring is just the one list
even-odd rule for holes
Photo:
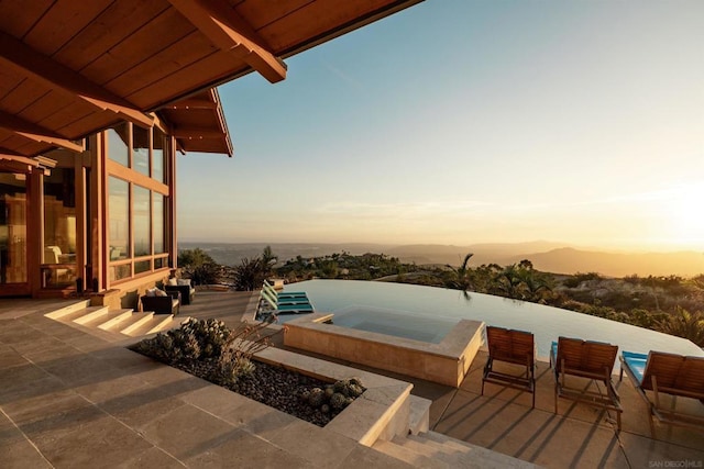
[[[616,344],[622,350],[704,356],[692,342],[659,332],[541,304],[433,287],[359,280],[308,280],[285,287],[305,291],[317,312],[333,323],[387,335],[438,343],[459,320],[534,333],[538,355],[549,355],[559,336]],[[282,315],[286,322],[297,315]]]

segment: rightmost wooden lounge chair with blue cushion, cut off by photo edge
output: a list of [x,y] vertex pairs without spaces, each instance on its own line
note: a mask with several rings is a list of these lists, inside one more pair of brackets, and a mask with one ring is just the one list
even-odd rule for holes
[[663,351],[650,351],[648,355],[624,351],[619,358],[619,379],[624,379],[626,371],[648,404],[650,433],[653,437],[654,418],[668,425],[704,429],[704,416],[675,411],[675,401],[672,401],[670,409],[661,402],[661,394],[669,394],[673,399],[685,398],[704,403],[704,357],[685,357]]

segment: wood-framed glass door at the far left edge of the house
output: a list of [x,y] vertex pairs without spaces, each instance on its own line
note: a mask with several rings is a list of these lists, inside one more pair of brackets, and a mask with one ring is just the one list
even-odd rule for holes
[[26,175],[0,171],[0,295],[26,294]]

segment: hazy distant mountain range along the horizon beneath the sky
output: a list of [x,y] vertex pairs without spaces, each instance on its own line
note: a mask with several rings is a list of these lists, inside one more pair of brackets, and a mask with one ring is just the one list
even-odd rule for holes
[[609,277],[669,276],[693,277],[704,273],[704,253],[609,253],[594,248],[575,248],[564,243],[530,242],[504,244],[474,244],[470,246],[452,246],[436,244],[417,244],[392,246],[369,243],[194,243],[182,242],[179,248],[200,247],[219,264],[239,265],[243,258],[252,258],[262,254],[270,245],[280,261],[296,256],[304,258],[319,257],[333,253],[346,252],[352,255],[365,253],[386,254],[398,257],[404,263],[418,265],[453,265],[458,266],[468,253],[473,253],[471,267],[482,264],[501,266],[529,259],[536,269],[553,273],[598,272]]

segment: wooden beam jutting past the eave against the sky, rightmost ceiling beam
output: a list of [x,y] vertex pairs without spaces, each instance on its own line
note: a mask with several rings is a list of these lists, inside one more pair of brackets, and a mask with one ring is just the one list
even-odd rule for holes
[[272,83],[286,78],[286,64],[274,56],[254,29],[222,0],[168,0],[216,46],[243,59]]

